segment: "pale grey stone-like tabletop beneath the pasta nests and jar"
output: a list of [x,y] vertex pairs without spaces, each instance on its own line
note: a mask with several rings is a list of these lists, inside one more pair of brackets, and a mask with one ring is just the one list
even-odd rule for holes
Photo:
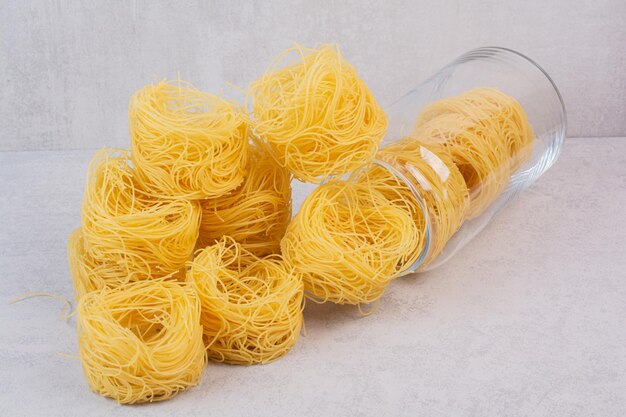
[[626,138],[561,159],[449,263],[394,282],[370,317],[308,305],[265,366],[209,364],[159,404],[92,394],[61,303],[92,152],[0,153],[1,416],[626,415]]

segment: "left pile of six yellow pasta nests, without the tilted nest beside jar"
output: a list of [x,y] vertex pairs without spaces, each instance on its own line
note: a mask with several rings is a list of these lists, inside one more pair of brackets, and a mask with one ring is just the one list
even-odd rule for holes
[[207,358],[276,359],[303,309],[279,249],[290,173],[250,140],[246,112],[174,81],[139,90],[129,118],[131,149],[91,161],[69,242],[84,373],[121,403],[197,384]]

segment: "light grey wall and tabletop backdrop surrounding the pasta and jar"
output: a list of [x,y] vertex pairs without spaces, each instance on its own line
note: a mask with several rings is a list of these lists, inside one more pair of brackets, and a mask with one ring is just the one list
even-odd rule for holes
[[[0,4],[0,416],[626,415],[623,1]],[[310,303],[279,361],[209,364],[171,401],[89,392],[67,236],[95,148],[127,146],[130,94],[162,77],[245,86],[293,42],[339,43],[387,103],[468,49],[537,60],[569,111],[555,166],[442,267],[370,317]],[[575,138],[572,138],[575,137]],[[297,186],[301,201],[307,189]]]

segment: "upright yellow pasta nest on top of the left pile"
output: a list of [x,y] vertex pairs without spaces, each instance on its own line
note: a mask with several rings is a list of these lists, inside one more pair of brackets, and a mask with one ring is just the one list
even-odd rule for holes
[[179,80],[137,91],[128,113],[137,179],[153,195],[216,197],[243,181],[248,124],[234,103]]

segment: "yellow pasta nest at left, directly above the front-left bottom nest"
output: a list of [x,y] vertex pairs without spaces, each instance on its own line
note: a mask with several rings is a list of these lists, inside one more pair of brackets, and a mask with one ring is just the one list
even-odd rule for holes
[[[193,254],[200,215],[197,202],[146,195],[126,151],[99,151],[85,186],[82,237],[75,236],[75,254],[70,253],[70,263],[83,263],[91,272],[75,280],[91,290],[176,274]],[[72,267],[81,268],[85,271]]]

